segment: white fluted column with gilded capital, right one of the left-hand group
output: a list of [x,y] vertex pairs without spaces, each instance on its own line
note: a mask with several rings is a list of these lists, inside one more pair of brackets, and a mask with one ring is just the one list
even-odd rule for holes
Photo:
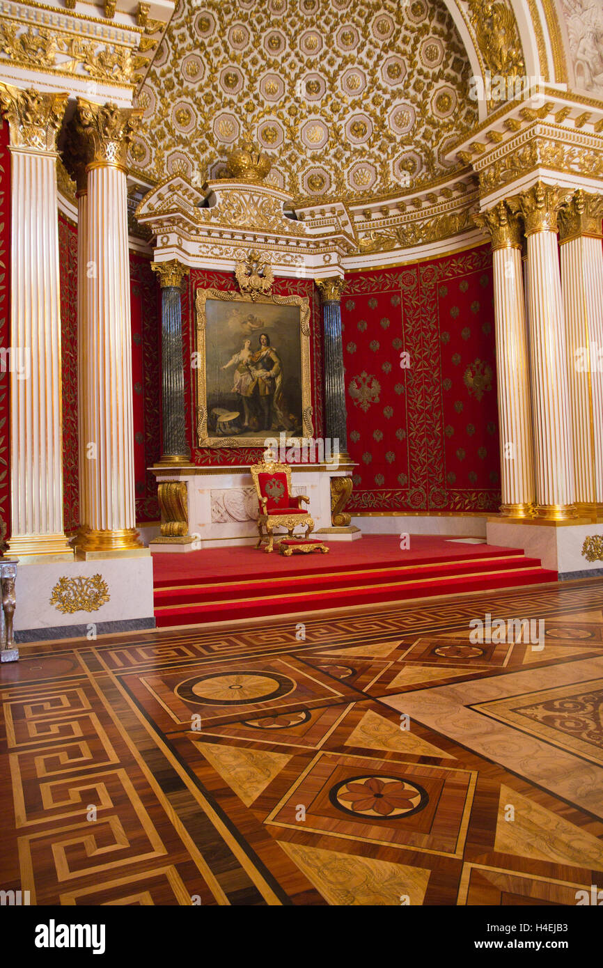
[[136,112],[81,99],[88,154],[81,339],[82,514],[78,553],[131,552],[136,531],[125,155]]

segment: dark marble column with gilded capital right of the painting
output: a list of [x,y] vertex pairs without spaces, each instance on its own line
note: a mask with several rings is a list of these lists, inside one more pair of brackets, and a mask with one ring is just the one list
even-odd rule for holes
[[[339,450],[347,458],[346,384],[342,345],[341,298],[345,280],[340,276],[317,280],[322,297],[324,335],[324,417],[325,435],[339,439]],[[331,446],[334,446],[332,442]]]

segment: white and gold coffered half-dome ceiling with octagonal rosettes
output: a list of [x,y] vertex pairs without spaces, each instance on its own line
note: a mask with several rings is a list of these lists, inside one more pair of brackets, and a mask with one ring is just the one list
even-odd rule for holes
[[179,0],[130,163],[201,184],[251,134],[302,203],[424,190],[477,122],[469,76],[440,0]]

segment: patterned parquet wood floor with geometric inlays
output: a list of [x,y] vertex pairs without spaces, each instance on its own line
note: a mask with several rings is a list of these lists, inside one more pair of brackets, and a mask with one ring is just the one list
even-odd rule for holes
[[[575,905],[603,582],[20,647],[0,886],[39,905]],[[469,621],[545,622],[543,649]]]

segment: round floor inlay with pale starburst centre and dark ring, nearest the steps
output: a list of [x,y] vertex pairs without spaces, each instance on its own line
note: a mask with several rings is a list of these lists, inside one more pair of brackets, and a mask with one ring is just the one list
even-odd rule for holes
[[181,682],[175,692],[181,699],[201,706],[241,706],[279,699],[295,688],[295,682],[277,673],[259,671],[210,673]]

